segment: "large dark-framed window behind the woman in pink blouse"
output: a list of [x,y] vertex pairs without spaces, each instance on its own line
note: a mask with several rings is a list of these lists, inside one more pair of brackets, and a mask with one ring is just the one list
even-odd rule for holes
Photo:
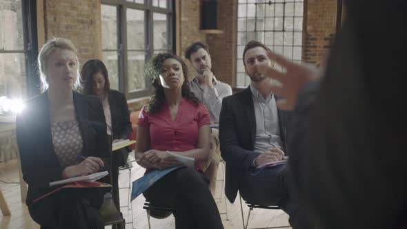
[[174,50],[172,0],[102,0],[102,52],[110,87],[128,99],[150,93],[144,76],[146,61]]

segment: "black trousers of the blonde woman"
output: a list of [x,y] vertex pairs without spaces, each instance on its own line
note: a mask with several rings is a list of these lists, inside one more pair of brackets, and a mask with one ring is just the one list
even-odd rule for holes
[[103,229],[103,195],[100,188],[63,188],[30,204],[28,211],[41,228]]

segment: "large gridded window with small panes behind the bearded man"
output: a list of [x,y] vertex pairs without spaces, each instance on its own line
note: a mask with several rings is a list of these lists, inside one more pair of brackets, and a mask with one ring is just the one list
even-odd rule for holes
[[237,87],[246,87],[242,54],[251,40],[261,41],[288,59],[301,61],[304,0],[239,0],[237,14]]

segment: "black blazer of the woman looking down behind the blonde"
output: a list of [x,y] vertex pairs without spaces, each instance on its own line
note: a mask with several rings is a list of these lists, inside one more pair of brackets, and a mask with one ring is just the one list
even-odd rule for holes
[[112,115],[113,139],[129,139],[132,132],[132,123],[130,123],[130,112],[128,111],[126,97],[117,90],[109,90],[108,101],[110,114]]

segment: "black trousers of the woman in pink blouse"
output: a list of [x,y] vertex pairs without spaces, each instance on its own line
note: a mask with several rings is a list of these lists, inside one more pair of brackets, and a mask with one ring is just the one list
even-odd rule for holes
[[177,229],[224,228],[208,183],[203,172],[180,168],[159,179],[143,195],[152,203],[173,205]]

